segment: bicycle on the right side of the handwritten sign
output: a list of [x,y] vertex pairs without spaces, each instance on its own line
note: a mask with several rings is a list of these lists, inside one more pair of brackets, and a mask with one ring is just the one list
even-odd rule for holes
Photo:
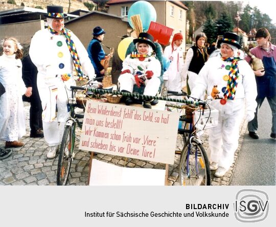
[[[168,90],[168,96],[183,96],[186,99],[189,98],[185,92],[173,92]],[[198,99],[194,99],[198,100]],[[199,100],[200,101],[200,100]],[[179,163],[179,183],[180,185],[211,185],[211,172],[210,164],[208,160],[208,155],[203,147],[203,143],[200,140],[200,135],[202,135],[202,130],[205,129],[206,124],[208,123],[211,116],[211,108],[209,103],[211,100],[203,101],[207,107],[209,107],[209,116],[206,122],[203,122],[204,125],[200,126],[200,130],[196,128],[198,121],[203,115],[203,111],[200,110],[198,120],[194,119],[196,107],[191,107],[189,105],[173,105],[167,104],[167,107],[173,107],[177,109],[186,109],[185,115],[180,116],[179,122],[182,127],[178,129],[178,133],[182,135],[184,146],[180,152],[180,163]],[[187,111],[192,109],[192,111]],[[208,110],[207,110],[208,111]],[[190,116],[188,116],[188,114]],[[191,115],[192,113],[192,115]],[[176,152],[179,154],[179,152]]]

